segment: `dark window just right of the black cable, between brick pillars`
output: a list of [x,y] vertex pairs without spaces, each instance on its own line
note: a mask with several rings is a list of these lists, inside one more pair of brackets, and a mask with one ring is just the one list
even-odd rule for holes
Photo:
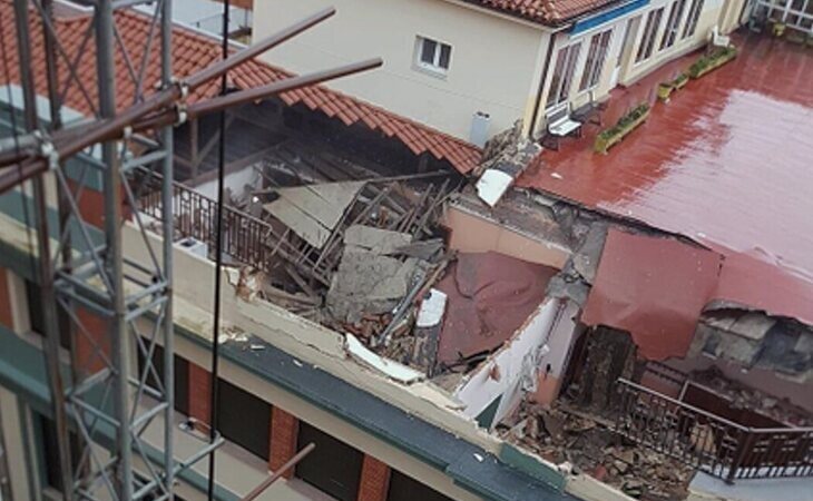
[[217,424],[223,436],[268,460],[271,404],[234,384],[219,380]]

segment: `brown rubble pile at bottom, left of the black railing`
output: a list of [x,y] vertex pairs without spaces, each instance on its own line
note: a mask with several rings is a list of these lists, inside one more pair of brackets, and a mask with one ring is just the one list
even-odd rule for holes
[[648,501],[686,498],[693,470],[685,464],[624,440],[600,418],[560,404],[546,410],[523,402],[497,426],[505,440],[574,472],[610,484],[627,495]]

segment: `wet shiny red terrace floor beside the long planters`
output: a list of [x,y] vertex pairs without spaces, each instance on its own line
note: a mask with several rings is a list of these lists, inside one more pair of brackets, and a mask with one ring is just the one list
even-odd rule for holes
[[[737,59],[655,104],[608,155],[592,153],[589,126],[540,154],[518,185],[686,235],[737,263],[748,254],[765,266],[729,271],[758,278],[726,278],[726,294],[810,321],[813,301],[790,292],[813,297],[813,55],[758,36],[735,41]],[[605,127],[696,57],[616,89]]]

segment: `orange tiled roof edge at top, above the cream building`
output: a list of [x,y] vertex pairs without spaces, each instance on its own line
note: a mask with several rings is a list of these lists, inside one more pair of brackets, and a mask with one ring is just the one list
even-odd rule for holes
[[542,24],[557,24],[618,0],[467,0]]

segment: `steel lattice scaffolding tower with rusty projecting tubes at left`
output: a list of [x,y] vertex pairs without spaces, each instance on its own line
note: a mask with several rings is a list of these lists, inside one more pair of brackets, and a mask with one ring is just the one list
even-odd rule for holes
[[[178,460],[173,449],[173,127],[188,117],[375,68],[381,61],[362,61],[187,105],[190,92],[327,19],[334,10],[317,12],[251,47],[232,51],[195,75],[176,79],[172,60],[172,0],[81,1],[90,19],[88,30],[81,35],[82,47],[90,48],[92,43],[95,50],[80,51],[76,57],[68,55],[55,28],[53,0],[10,1],[23,99],[21,124],[14,124],[12,106],[12,137],[0,140],[0,193],[20,189],[25,198],[25,184],[31,185],[36,224],[29,227],[36,227],[37,235],[35,254],[46,331],[43,352],[59,438],[62,495],[66,500],[170,500],[176,475],[222,443],[216,434],[212,440],[200,434],[200,448],[184,460]],[[136,53],[121,39],[117,11],[138,4],[151,8],[144,10],[144,16],[150,18],[150,31]],[[47,122],[40,120],[37,111],[37,78],[41,75],[33,70],[31,48],[38,45],[46,53],[50,104]],[[127,68],[118,75],[117,55]],[[146,71],[151,57],[160,59],[157,82]],[[95,85],[88,81],[92,78],[80,71],[86,59],[95,59]],[[133,102],[121,102],[116,96],[118,79],[131,80],[136,89]],[[88,101],[96,96],[91,104],[95,116],[81,124],[63,125],[62,101],[71,89]],[[100,161],[82,166],[78,175],[69,173],[67,160],[89,151],[96,151]],[[97,169],[96,176],[101,179],[100,236],[81,209],[88,169]],[[133,174],[144,169],[160,173],[160,210],[151,214],[160,223],[160,238],[149,235],[139,210],[138,185],[144,176]],[[47,217],[47,176],[56,181],[56,228],[50,227]],[[138,245],[145,249],[146,259],[125,256],[125,224],[139,235]],[[80,311],[104,318],[101,337]],[[71,347],[81,341],[92,353],[79,360],[77,350],[70,350],[70,361],[66,363],[60,357],[60,330],[69,333]],[[164,356],[157,361],[154,355],[159,345],[164,346]],[[131,370],[133,350],[143,361],[140,371]],[[161,443],[153,440],[148,444],[145,431],[155,423],[163,423]],[[69,431],[80,443],[75,463]]]

